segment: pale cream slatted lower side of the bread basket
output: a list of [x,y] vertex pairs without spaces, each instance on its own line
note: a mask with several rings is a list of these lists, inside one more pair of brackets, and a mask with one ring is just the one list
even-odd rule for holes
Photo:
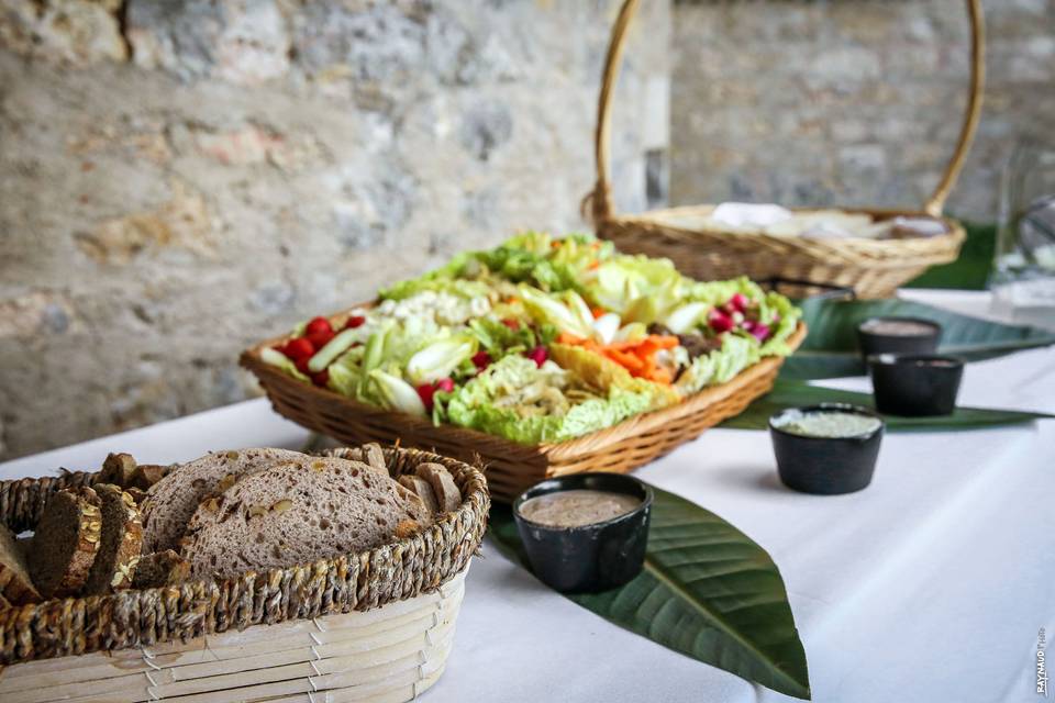
[[0,700],[409,701],[443,673],[465,573],[434,592],[366,613],[7,667]]

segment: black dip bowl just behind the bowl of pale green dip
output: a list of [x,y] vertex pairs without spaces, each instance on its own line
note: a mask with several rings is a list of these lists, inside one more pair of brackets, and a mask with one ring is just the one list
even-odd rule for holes
[[964,362],[951,356],[875,354],[868,357],[876,410],[890,415],[951,415]]

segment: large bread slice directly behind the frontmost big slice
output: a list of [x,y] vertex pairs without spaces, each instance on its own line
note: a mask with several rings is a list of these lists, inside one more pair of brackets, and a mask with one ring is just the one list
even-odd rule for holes
[[303,459],[287,449],[242,449],[211,451],[189,464],[173,468],[146,492],[143,512],[143,553],[178,550],[187,523],[206,498],[221,493],[243,473],[276,461]]

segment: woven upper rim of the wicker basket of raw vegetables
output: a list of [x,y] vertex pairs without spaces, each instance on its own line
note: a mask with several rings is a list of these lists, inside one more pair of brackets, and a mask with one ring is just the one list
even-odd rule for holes
[[[368,309],[374,304],[376,304],[376,301],[375,303],[354,305],[347,310],[334,313],[327,319],[331,321],[341,320],[347,316],[353,310],[362,310],[364,308]],[[807,332],[808,330],[806,323],[799,321],[795,332],[790,337],[788,337],[788,339],[786,339],[786,344],[792,352],[801,346],[802,342],[806,339]],[[240,358],[241,365],[252,371],[258,378],[268,377],[270,380],[285,383],[289,388],[292,388],[293,384],[296,384],[298,392],[307,394],[309,399],[336,400],[346,406],[351,412],[384,416],[386,420],[390,420],[390,422],[393,424],[399,423],[406,426],[407,434],[417,435],[419,434],[420,429],[427,429],[431,432],[441,431],[451,435],[452,437],[463,438],[469,444],[479,444],[481,442],[486,442],[492,446],[504,447],[506,450],[512,455],[523,456],[525,454],[530,454],[547,459],[566,458],[587,451],[596,451],[604,445],[625,437],[629,434],[645,432],[651,426],[663,424],[674,416],[697,412],[701,406],[706,406],[707,404],[713,402],[717,398],[721,398],[730,392],[734,392],[752,373],[766,370],[768,365],[770,365],[774,359],[776,359],[777,362],[782,361],[782,357],[765,357],[752,366],[743,369],[740,373],[724,383],[703,388],[679,403],[633,415],[610,427],[602,427],[601,429],[596,429],[585,435],[573,437],[571,439],[565,439],[563,442],[521,444],[500,435],[488,434],[470,427],[462,427],[459,425],[451,424],[437,426],[427,419],[418,417],[400,411],[388,410],[379,405],[364,403],[353,398],[348,398],[347,395],[342,395],[335,391],[319,388],[314,384],[304,383],[303,381],[295,379],[277,367],[265,362],[260,357],[260,352],[263,349],[282,344],[284,342],[288,341],[290,336],[291,335],[287,334],[273,337],[246,349],[242,353]]]

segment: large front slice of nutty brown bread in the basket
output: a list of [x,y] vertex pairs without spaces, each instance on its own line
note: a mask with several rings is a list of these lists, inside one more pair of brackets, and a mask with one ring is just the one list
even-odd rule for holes
[[[302,457],[246,473],[198,507],[180,556],[229,578],[370,549],[432,524],[421,500],[360,461]],[[414,523],[415,525],[410,525]]]

